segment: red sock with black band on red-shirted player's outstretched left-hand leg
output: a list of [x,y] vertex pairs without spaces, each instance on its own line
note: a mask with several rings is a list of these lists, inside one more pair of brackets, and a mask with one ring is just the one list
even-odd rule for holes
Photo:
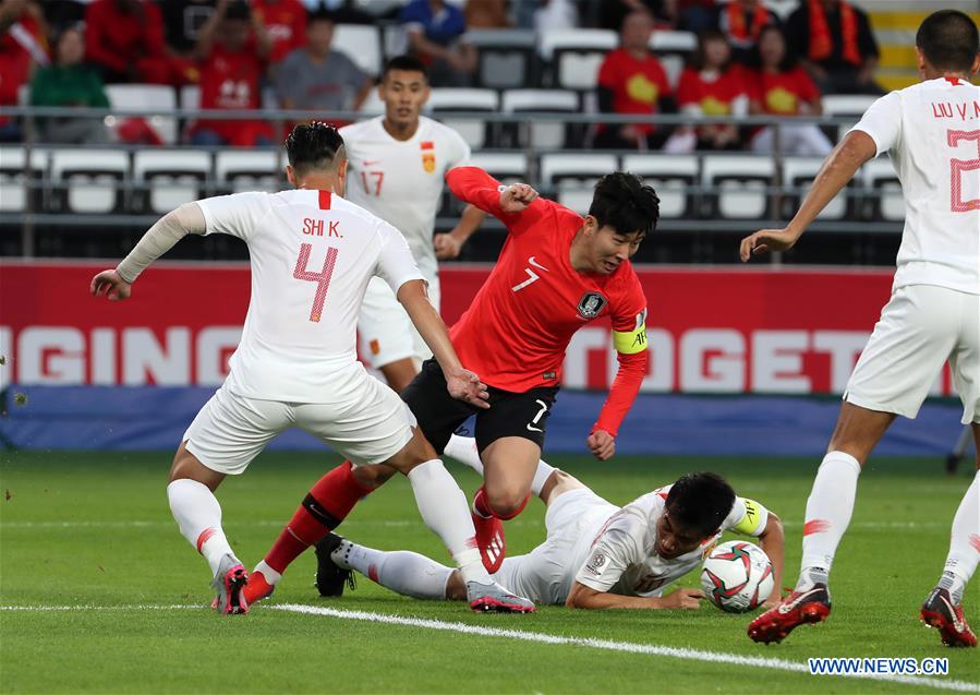
[[273,544],[265,562],[282,574],[290,563],[310,546],[320,541],[354,508],[358,501],[372,492],[353,476],[351,463],[343,462],[320,478]]

